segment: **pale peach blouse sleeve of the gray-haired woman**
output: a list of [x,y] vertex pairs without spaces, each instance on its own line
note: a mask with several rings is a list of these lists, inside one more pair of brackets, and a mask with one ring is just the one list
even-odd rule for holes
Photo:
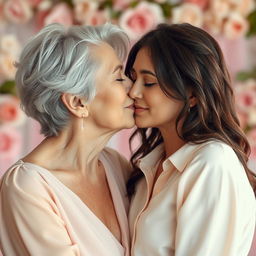
[[39,173],[23,166],[6,173],[0,187],[0,244],[4,255],[80,255],[55,199]]

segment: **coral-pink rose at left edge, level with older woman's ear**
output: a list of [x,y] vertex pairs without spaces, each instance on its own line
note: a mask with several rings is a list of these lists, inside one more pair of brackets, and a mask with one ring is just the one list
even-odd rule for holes
[[0,95],[0,124],[20,125],[25,115],[20,109],[19,100],[10,95]]

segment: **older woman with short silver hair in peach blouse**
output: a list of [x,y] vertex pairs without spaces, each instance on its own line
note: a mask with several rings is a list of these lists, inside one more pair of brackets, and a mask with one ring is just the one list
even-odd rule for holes
[[134,125],[122,66],[127,43],[110,24],[52,24],[24,48],[17,89],[46,138],[1,180],[4,255],[129,254],[129,165],[105,148]]

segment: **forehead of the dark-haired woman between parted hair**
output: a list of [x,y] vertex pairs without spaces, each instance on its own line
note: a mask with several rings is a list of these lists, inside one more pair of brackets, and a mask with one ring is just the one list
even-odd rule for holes
[[133,68],[135,71],[139,71],[141,69],[151,70],[151,71],[154,70],[150,51],[148,48],[144,47],[138,51],[135,62],[133,64]]

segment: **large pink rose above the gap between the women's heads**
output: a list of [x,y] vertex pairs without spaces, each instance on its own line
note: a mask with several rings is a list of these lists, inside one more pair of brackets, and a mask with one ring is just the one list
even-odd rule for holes
[[163,13],[159,5],[140,2],[134,9],[127,9],[121,15],[119,24],[128,36],[134,40],[163,21]]

